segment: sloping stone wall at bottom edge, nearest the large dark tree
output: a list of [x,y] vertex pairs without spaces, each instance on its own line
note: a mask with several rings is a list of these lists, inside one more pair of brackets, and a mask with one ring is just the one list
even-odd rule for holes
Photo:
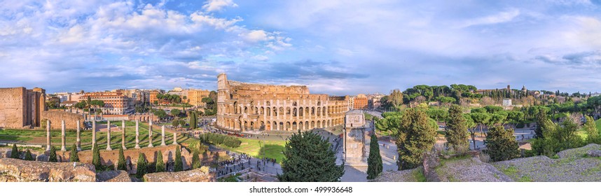
[[208,167],[184,172],[159,172],[144,175],[145,182],[214,182],[215,176]]

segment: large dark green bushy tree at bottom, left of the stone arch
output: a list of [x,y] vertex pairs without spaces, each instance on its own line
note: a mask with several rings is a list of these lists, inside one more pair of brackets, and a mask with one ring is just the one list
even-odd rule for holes
[[337,182],[344,174],[330,143],[314,132],[292,134],[283,153],[281,182]]

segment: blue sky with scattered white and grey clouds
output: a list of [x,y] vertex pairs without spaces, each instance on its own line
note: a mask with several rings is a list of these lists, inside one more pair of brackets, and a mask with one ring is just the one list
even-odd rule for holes
[[0,0],[0,87],[601,92],[601,1]]

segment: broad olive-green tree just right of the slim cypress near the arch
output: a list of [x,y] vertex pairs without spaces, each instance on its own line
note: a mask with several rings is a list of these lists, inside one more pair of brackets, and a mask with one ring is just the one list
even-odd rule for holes
[[436,143],[436,122],[420,109],[408,109],[401,116],[396,146],[401,169],[413,169],[422,162],[422,155]]

